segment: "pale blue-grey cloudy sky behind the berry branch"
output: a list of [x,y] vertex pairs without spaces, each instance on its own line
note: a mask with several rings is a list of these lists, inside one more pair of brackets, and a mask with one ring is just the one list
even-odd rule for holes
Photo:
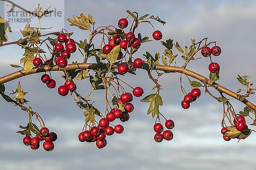
[[[14,0],[24,6],[25,3]],[[210,41],[217,41],[221,46],[220,57],[213,59],[221,65],[219,83],[236,91],[243,88],[236,80],[237,74],[250,75],[252,82],[256,82],[255,54],[256,54],[256,2],[253,0],[91,0],[91,1],[32,1],[26,0],[24,7],[34,10],[40,3],[43,8],[52,5],[53,9],[61,11],[62,17],[48,17],[42,21],[42,26],[53,26],[53,31],[65,27],[75,32],[73,38],[84,40],[88,33],[76,27],[71,27],[65,20],[67,17],[80,13],[92,14],[96,26],[117,25],[117,21],[126,17],[126,9],[137,11],[141,16],[148,13],[159,16],[167,22],[166,26],[154,23],[155,28],[163,33],[163,40],[172,38],[180,45],[190,45],[190,40],[201,40],[209,37]],[[0,1],[0,16],[6,17],[6,4]],[[36,24],[36,22],[34,22]],[[10,41],[20,38],[19,29],[25,23],[10,23],[13,33],[8,33]],[[35,25],[36,26],[36,25]],[[151,37],[152,28],[143,25],[138,32]],[[137,32],[137,33],[138,33]],[[87,38],[88,39],[88,38]],[[100,37],[96,40],[99,40]],[[97,44],[97,41],[95,42]],[[99,44],[98,44],[99,45]],[[153,41],[143,44],[137,52],[142,57],[145,51],[154,54],[163,51],[159,42]],[[5,46],[0,50],[0,77],[16,71],[9,64],[19,64],[23,51],[15,46]],[[197,57],[200,57],[198,54]],[[72,59],[82,61],[79,52],[72,55]],[[179,59],[179,64],[182,59]],[[208,59],[196,60],[187,68],[204,76],[209,74]],[[146,78],[144,71],[137,71],[137,76],[128,74],[125,80],[132,86],[141,86],[145,94],[151,94],[153,83]],[[41,113],[47,127],[58,133],[55,149],[45,152],[41,146],[39,150],[31,150],[22,143],[23,136],[15,133],[19,125],[26,125],[26,113],[19,108],[0,99],[0,169],[25,170],[34,167],[36,170],[240,170],[244,167],[255,169],[256,153],[254,149],[256,136],[253,133],[246,140],[231,140],[225,142],[220,133],[222,106],[206,94],[194,102],[188,110],[180,107],[183,98],[179,87],[179,74],[167,74],[160,79],[164,91],[161,93],[163,106],[160,111],[175,121],[172,141],[154,142],[152,127],[154,120],[146,115],[148,104],[134,99],[135,110],[131,118],[124,123],[125,130],[121,135],[108,137],[107,147],[99,150],[95,144],[81,143],[77,139],[84,123],[83,111],[73,102],[73,96],[61,97],[57,88],[48,89],[40,81],[41,74],[22,77],[6,83],[6,92],[17,87],[21,82],[29,105],[33,110]],[[57,87],[63,82],[58,73],[53,73]],[[77,82],[78,91],[86,94],[90,91],[87,80]],[[185,88],[189,88],[185,85]],[[102,91],[92,96],[96,106],[104,110]],[[256,101],[255,96],[250,100]],[[238,113],[244,107],[240,102],[231,100]],[[251,127],[253,128],[253,127]]]

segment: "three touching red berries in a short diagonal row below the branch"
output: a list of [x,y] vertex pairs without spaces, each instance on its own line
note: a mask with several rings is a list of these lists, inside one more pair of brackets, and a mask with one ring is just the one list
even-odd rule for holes
[[181,102],[181,107],[183,109],[188,109],[190,103],[194,102],[201,95],[201,90],[199,88],[194,88],[190,93],[184,96],[184,99]]

